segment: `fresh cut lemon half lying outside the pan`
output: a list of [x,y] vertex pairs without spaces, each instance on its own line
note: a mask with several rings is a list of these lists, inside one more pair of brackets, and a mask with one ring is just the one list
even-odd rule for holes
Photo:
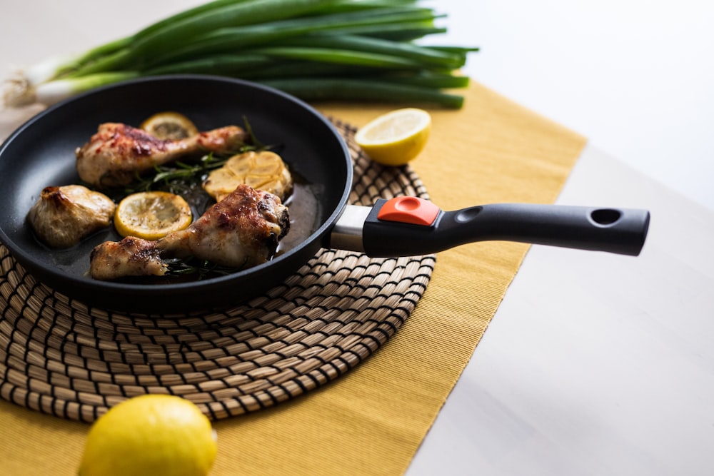
[[402,166],[422,151],[431,131],[431,116],[417,108],[397,109],[367,123],[355,141],[373,161]]

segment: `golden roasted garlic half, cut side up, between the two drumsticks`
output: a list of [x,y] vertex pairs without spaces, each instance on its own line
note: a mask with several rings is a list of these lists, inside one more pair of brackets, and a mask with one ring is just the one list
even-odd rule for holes
[[242,183],[272,193],[281,201],[293,188],[290,171],[278,154],[251,151],[229,158],[223,167],[209,173],[203,181],[203,190],[221,201]]

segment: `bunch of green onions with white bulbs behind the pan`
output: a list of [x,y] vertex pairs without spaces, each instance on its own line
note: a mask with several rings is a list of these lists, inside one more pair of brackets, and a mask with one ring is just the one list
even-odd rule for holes
[[424,46],[445,18],[420,0],[213,0],[83,54],[5,81],[6,106],[49,105],[142,76],[250,79],[308,101],[382,101],[459,108],[468,46]]

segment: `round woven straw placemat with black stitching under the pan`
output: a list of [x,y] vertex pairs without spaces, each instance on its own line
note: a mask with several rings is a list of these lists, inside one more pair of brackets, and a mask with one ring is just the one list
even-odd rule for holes
[[[351,150],[351,203],[428,198],[408,166]],[[282,285],[221,312],[137,315],[88,308],[56,293],[0,245],[0,396],[91,422],[144,393],[195,402],[213,420],[271,407],[359,365],[404,323],[435,258],[367,258],[321,250]]]

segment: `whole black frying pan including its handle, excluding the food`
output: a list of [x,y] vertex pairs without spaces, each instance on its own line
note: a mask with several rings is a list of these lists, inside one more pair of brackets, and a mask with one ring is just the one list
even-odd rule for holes
[[[93,280],[86,275],[95,245],[120,237],[106,229],[66,250],[52,250],[26,224],[45,186],[77,183],[74,150],[103,122],[132,125],[158,111],[179,111],[200,130],[242,124],[248,118],[263,143],[283,144],[291,170],[313,184],[318,226],[273,260],[236,273],[184,283],[141,284]],[[478,240],[603,250],[637,255],[648,230],[642,210],[493,204],[443,212],[418,198],[347,204],[350,153],[336,128],[316,110],[281,91],[214,76],[164,76],[99,88],[46,109],[0,148],[0,240],[39,281],[102,308],[186,312],[236,304],[280,283],[321,247],[371,256],[435,253]]]

